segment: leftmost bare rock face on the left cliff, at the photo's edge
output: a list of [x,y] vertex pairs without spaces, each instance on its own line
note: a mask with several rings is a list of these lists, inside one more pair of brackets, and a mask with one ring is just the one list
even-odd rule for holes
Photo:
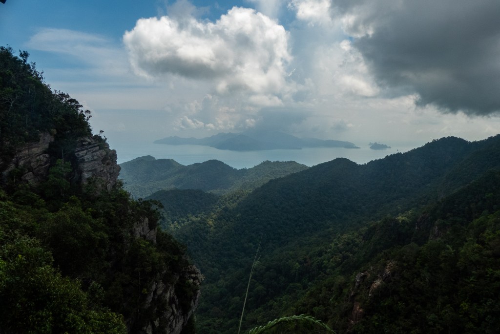
[[53,140],[52,135],[41,133],[38,142],[29,143],[17,150],[7,168],[2,171],[2,181],[7,179],[8,174],[14,168],[22,168],[24,173],[21,179],[31,185],[36,185],[44,180],[50,166],[50,156],[46,150]]

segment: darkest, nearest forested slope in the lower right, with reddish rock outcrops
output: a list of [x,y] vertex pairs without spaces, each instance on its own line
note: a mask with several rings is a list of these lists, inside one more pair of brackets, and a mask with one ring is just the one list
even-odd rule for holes
[[311,259],[289,310],[339,331],[495,332],[500,304],[500,172],[419,211],[336,237]]

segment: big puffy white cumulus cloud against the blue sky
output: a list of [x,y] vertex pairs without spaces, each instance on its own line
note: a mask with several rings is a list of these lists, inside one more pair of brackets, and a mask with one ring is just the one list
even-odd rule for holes
[[141,18],[123,42],[140,75],[207,79],[218,94],[248,91],[280,98],[286,90],[287,32],[250,8],[233,7],[215,22],[192,16]]

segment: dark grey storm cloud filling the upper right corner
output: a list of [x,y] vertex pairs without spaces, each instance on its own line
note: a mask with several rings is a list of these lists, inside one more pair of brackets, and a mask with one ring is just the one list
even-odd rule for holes
[[418,105],[500,111],[500,1],[339,0],[332,13],[381,86]]

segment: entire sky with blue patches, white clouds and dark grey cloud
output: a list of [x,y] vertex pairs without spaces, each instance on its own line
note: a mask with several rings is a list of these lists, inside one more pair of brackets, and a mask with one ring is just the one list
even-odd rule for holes
[[6,0],[0,45],[112,143],[500,133],[498,0]]

